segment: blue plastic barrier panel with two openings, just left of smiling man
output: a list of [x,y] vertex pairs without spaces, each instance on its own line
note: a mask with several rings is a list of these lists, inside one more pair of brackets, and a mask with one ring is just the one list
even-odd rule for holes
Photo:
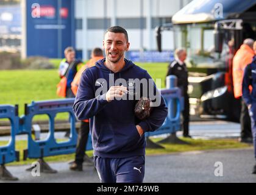
[[[26,106],[25,115],[21,117],[24,124],[20,133],[28,134],[27,157],[42,158],[53,155],[71,154],[76,151],[77,133],[76,116],[73,113],[74,98],[58,99],[54,101],[38,101]],[[54,138],[54,118],[57,113],[68,112],[71,123],[70,139],[57,143]],[[35,115],[46,114],[49,116],[49,135],[46,140],[35,141],[32,139],[32,118]],[[91,138],[89,138],[91,140]],[[88,140],[89,140],[88,139]],[[91,143],[88,141],[88,149]]]

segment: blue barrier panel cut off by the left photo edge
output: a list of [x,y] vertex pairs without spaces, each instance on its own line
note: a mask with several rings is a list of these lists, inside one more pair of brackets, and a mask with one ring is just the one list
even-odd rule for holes
[[18,105],[13,107],[12,105],[0,105],[0,118],[9,119],[11,124],[10,129],[10,140],[6,146],[0,146],[0,179],[6,180],[17,180],[16,177],[13,177],[7,169],[5,169],[5,163],[11,163],[15,160],[19,160],[19,152],[15,151],[15,135],[16,130],[19,126],[19,117],[18,117]]

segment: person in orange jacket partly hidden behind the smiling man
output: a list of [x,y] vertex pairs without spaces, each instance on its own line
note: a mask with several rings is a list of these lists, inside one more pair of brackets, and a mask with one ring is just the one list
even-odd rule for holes
[[[91,66],[94,66],[95,63],[98,60],[103,59],[103,51],[101,48],[94,48],[91,52],[91,59],[84,65],[82,68],[77,71],[76,76],[73,79],[73,82],[71,83],[71,90],[76,95],[77,94],[77,88],[79,86],[80,77],[82,76],[82,73],[85,71],[85,69],[90,68]],[[85,154],[86,150],[86,144],[88,140],[88,133],[90,132],[90,126],[89,126],[89,119],[85,119],[81,121],[81,127],[79,129],[79,135],[77,138],[77,146],[76,146],[76,157],[75,160],[71,163],[69,169],[73,171],[82,171],[82,163],[84,161],[87,162],[87,165],[93,165],[93,160],[89,158]]]

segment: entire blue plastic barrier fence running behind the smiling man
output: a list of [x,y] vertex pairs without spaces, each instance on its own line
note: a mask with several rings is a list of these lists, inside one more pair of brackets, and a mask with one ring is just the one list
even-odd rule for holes
[[[145,137],[160,135],[164,133],[174,133],[180,130],[180,112],[183,110],[183,98],[180,89],[176,87],[177,78],[168,76],[166,78],[166,89],[161,90],[163,99],[168,107],[168,116],[162,127],[154,132],[146,132]],[[15,135],[27,134],[27,149],[24,150],[24,160],[26,158],[39,158],[40,172],[57,172],[49,167],[43,160],[43,157],[54,155],[71,154],[76,151],[77,132],[76,132],[76,116],[73,112],[74,98],[57,99],[51,101],[36,101],[29,105],[25,105],[25,115],[19,118],[18,106],[0,105],[0,118],[10,120],[11,139],[7,146],[0,147],[0,179],[9,178],[17,179],[8,172],[4,165],[19,159],[18,152],[15,152]],[[55,124],[54,119],[58,113],[68,113],[70,122],[70,135],[68,141],[57,142],[54,137]],[[32,138],[32,119],[37,115],[47,115],[49,117],[49,133],[46,140],[37,140]],[[148,140],[147,140],[148,143]],[[87,150],[91,150],[91,135],[89,133],[87,141]],[[31,171],[34,167],[27,169]],[[6,176],[6,177],[5,177]]]

